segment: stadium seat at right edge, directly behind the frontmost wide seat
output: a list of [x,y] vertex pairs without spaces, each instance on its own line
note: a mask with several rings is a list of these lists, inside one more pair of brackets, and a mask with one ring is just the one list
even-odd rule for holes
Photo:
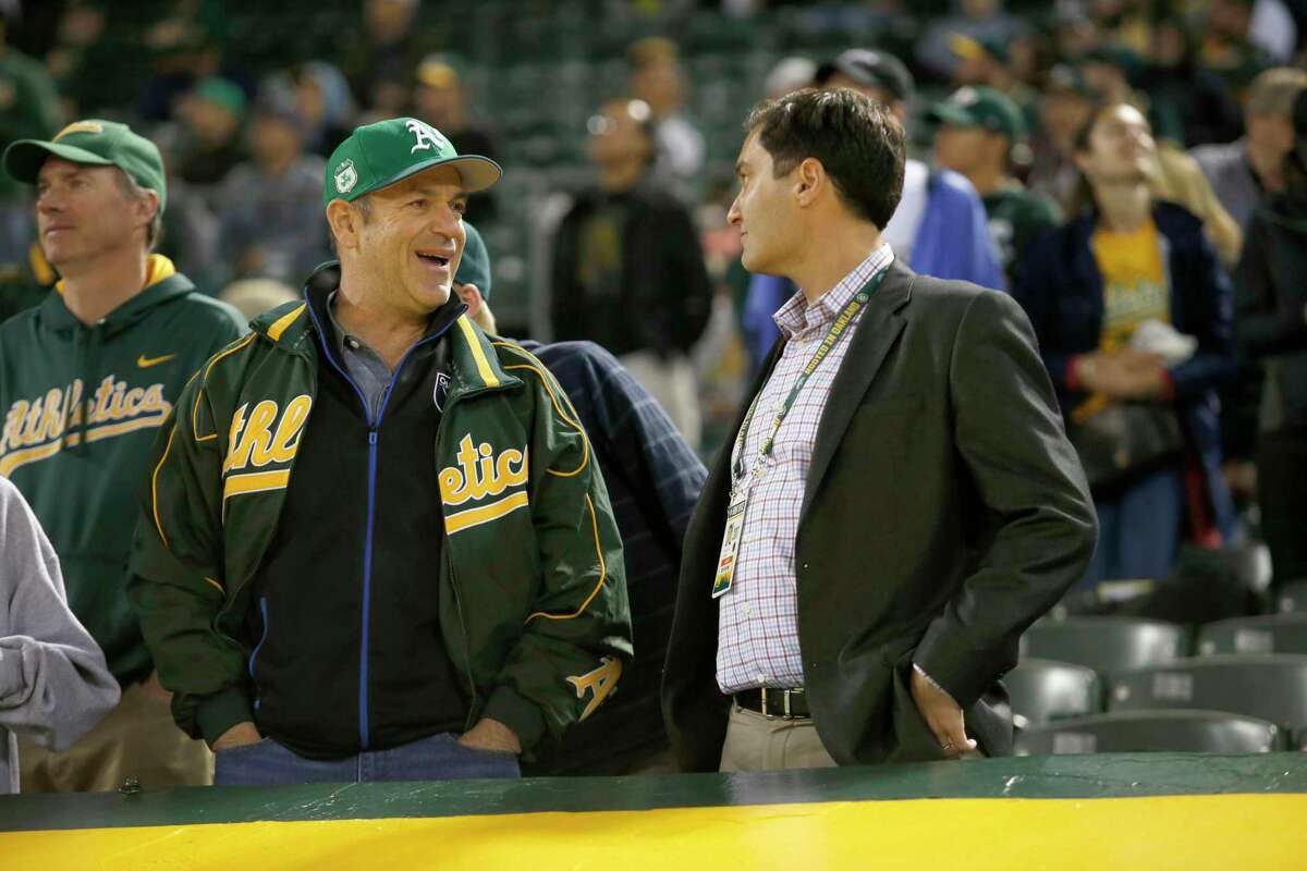
[[1307,723],[1307,656],[1213,656],[1119,673],[1107,709],[1191,708]]

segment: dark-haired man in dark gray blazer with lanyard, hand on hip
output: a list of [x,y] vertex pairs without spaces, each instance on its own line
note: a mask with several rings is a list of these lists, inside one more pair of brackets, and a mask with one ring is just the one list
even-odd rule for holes
[[685,541],[663,709],[685,770],[1012,752],[1000,676],[1097,522],[1005,294],[881,239],[903,129],[852,90],[759,104],[744,265],[801,290]]

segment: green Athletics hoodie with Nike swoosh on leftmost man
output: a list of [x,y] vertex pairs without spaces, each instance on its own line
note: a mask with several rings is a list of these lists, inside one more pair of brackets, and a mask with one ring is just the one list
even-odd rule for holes
[[0,325],[0,477],[35,511],[68,603],[122,684],[153,667],[124,594],[150,444],[191,375],[243,332],[158,255],[145,290],[98,324],[51,293]]

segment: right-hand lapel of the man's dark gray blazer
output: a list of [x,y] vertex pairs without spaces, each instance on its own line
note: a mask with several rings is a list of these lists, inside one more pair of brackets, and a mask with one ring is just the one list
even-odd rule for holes
[[872,296],[872,302],[857,321],[857,328],[850,340],[851,345],[840,363],[839,372],[830,387],[830,397],[817,426],[817,443],[813,447],[813,461],[808,469],[808,483],[804,486],[804,504],[799,512],[799,522],[808,515],[813,495],[821,486],[830,461],[844,437],[844,431],[853,420],[853,414],[861,404],[867,389],[880,372],[885,356],[907,321],[899,309],[912,295],[912,279],[916,278],[898,259],[889,266],[885,282]]

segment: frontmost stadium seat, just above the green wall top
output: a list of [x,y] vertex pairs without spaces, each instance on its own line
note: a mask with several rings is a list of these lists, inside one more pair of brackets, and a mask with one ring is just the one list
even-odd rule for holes
[[1256,717],[1219,710],[1140,710],[1077,717],[1017,733],[1018,756],[1064,753],[1269,753],[1286,733]]

